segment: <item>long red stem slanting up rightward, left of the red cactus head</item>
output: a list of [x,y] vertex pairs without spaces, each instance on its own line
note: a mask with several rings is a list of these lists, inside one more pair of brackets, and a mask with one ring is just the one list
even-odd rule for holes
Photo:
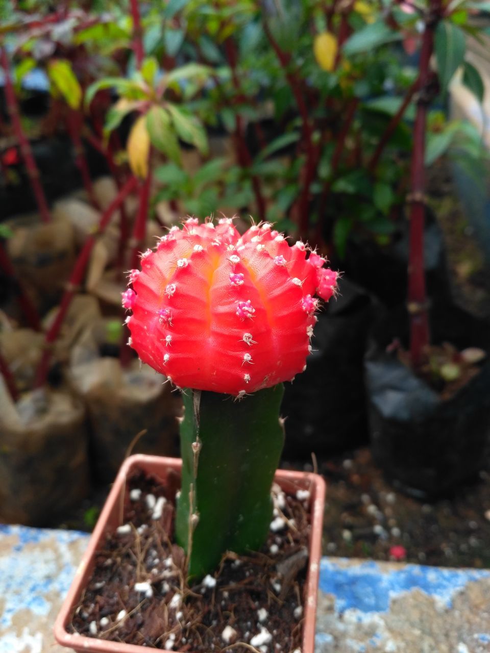
[[63,320],[65,319],[65,315],[67,314],[67,310],[71,304],[71,300],[73,299],[76,289],[82,282],[88,261],[90,259],[91,251],[95,245],[96,238],[99,234],[103,233],[108,223],[110,222],[114,211],[116,211],[121,206],[127,195],[129,195],[129,193],[135,189],[136,185],[137,180],[135,177],[130,177],[129,180],[127,180],[122,190],[118,194],[118,197],[116,197],[116,199],[114,199],[106,208],[105,212],[103,212],[97,232],[90,234],[90,236],[85,241],[80,254],[78,255],[78,259],[76,259],[73,272],[71,273],[69,283],[67,284],[67,289],[61,298],[56,317],[48,332],[46,333],[46,337],[44,338],[44,352],[42,353],[41,362],[37,368],[35,380],[35,387],[37,388],[42,387],[46,383],[46,377],[48,375],[49,364],[52,355],[52,344],[59,334],[59,330],[63,324]]

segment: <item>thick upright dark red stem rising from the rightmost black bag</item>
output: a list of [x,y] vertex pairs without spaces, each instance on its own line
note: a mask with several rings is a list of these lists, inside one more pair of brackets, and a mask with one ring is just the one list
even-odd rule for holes
[[425,20],[419,59],[419,97],[414,125],[414,146],[410,174],[410,251],[408,256],[408,312],[410,314],[410,357],[415,370],[423,363],[429,346],[429,317],[425,288],[424,221],[425,221],[425,131],[430,103],[431,56],[434,29],[442,16],[441,0],[431,0]]

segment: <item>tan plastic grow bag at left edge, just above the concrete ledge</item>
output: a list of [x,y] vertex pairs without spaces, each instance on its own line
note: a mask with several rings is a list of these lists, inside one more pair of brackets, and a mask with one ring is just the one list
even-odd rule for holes
[[49,526],[88,496],[84,407],[67,392],[14,404],[0,377],[0,522]]

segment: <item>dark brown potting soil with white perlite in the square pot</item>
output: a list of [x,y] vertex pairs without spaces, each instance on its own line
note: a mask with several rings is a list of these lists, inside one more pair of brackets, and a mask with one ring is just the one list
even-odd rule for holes
[[275,514],[263,549],[227,554],[214,575],[188,586],[184,551],[172,542],[177,489],[142,474],[129,479],[123,526],[99,550],[69,629],[178,651],[301,648],[308,497],[274,487]]

